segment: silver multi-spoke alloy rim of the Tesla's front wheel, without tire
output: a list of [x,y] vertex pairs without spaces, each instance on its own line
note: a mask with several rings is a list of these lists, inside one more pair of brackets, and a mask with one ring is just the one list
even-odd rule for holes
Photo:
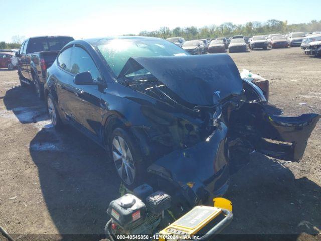
[[133,157],[126,141],[120,136],[115,136],[112,140],[112,156],[121,179],[127,185],[133,184],[135,179]]

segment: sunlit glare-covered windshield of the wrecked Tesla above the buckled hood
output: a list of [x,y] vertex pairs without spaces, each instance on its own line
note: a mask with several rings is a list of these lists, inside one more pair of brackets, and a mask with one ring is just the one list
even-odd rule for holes
[[130,57],[187,55],[177,45],[156,38],[110,39],[96,46],[116,76]]

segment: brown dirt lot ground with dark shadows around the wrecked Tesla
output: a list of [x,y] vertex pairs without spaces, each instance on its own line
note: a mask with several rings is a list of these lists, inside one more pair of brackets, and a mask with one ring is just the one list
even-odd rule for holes
[[[270,80],[270,102],[284,115],[321,114],[321,59],[300,48],[231,56],[240,70]],[[108,203],[120,184],[113,164],[77,131],[52,128],[44,103],[31,88],[20,87],[17,71],[0,70],[0,130],[0,225],[17,240],[103,233]],[[252,154],[226,194],[234,219],[224,233],[321,239],[320,136],[321,122],[299,163],[277,165]]]

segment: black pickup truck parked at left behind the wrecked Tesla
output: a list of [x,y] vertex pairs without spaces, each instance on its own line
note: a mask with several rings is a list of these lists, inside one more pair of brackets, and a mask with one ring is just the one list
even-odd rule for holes
[[68,36],[42,36],[25,40],[16,53],[21,86],[34,85],[38,98],[42,99],[47,68],[55,61],[59,51],[72,40]]

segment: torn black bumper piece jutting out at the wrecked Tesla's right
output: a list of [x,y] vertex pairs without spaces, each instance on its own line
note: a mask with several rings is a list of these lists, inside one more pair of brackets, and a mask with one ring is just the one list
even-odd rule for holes
[[277,159],[298,161],[320,115],[284,117],[274,115],[268,105],[246,103],[231,119],[232,132],[250,142],[255,150]]

